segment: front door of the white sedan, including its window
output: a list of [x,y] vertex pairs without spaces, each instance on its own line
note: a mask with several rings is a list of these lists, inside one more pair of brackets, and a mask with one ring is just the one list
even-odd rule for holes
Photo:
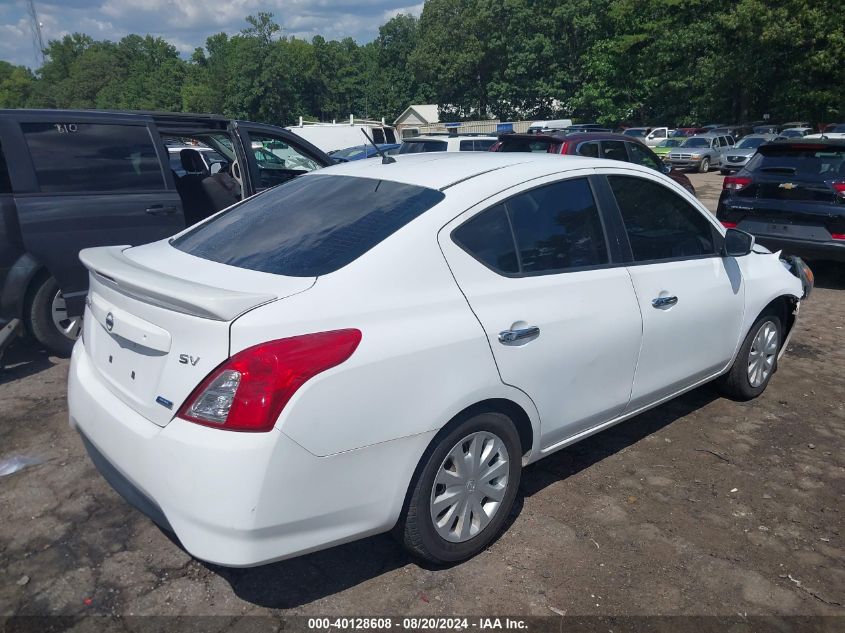
[[709,212],[658,177],[608,173],[643,318],[629,411],[721,371],[740,336],[745,286]]

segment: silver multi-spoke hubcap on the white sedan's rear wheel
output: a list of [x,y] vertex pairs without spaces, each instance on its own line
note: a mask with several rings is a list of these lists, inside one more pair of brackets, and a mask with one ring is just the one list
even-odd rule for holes
[[431,520],[437,533],[462,543],[482,532],[508,488],[508,450],[487,431],[468,435],[440,464],[431,490]]

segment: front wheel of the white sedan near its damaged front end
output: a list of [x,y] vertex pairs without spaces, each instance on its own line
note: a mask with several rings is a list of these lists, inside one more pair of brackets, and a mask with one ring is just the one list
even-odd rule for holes
[[782,342],[780,319],[772,314],[759,316],[740,346],[734,364],[719,379],[717,386],[722,395],[745,401],[763,393],[777,371],[777,356]]

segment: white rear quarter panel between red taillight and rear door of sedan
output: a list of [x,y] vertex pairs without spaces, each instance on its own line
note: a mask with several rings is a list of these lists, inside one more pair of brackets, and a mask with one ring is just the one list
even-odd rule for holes
[[442,221],[427,215],[307,292],[233,324],[232,353],[309,332],[361,330],[352,357],[306,383],[277,422],[315,455],[437,430],[488,398],[516,402],[538,424],[530,399],[501,382],[484,332],[440,252]]

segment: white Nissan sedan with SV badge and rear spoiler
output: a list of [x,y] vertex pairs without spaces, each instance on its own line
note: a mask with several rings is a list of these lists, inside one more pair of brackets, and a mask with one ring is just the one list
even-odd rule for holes
[[337,165],[81,258],[70,422],[229,566],[391,528],[472,556],[525,465],[709,380],[759,395],[805,291],[653,169],[536,154]]

